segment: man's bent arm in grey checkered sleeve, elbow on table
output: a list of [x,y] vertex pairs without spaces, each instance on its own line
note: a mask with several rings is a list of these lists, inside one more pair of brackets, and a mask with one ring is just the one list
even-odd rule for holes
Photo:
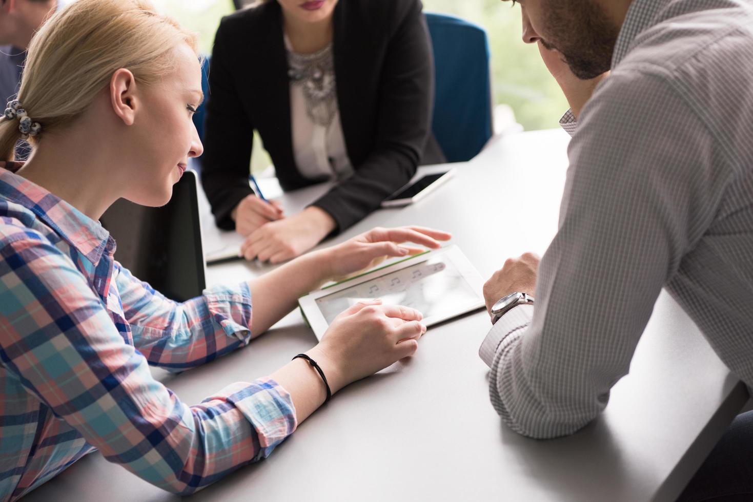
[[654,75],[614,73],[586,105],[532,322],[516,307],[490,333],[490,396],[515,431],[572,434],[606,406],[663,284],[712,218],[714,145]]

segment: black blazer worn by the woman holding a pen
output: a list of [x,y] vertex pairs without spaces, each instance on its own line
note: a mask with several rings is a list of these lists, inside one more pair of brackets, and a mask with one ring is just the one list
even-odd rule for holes
[[[352,177],[314,202],[345,230],[426,163],[444,161],[431,136],[434,60],[419,0],[340,0],[334,11],[337,103]],[[215,38],[202,182],[218,227],[248,187],[257,129],[283,190],[323,179],[297,169],[291,134],[282,8],[275,1],[231,14]],[[431,139],[431,141],[429,141]],[[428,148],[427,148],[428,145]]]

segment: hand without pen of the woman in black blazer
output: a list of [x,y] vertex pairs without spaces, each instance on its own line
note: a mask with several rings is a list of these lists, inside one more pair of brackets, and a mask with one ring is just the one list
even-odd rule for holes
[[310,206],[300,213],[259,227],[240,247],[246,260],[281,263],[309,251],[335,228],[323,209]]

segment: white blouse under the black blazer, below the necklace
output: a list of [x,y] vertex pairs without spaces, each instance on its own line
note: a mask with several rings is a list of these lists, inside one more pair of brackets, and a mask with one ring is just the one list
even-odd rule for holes
[[[288,35],[285,35],[285,48],[293,53]],[[323,78],[326,84],[334,86],[334,71],[325,71]],[[328,125],[316,123],[309,115],[304,85],[305,82],[291,79],[293,157],[298,170],[306,178],[321,178],[323,175],[337,180],[347,178],[353,174],[353,168],[346,151],[337,99],[334,100],[334,117]]]

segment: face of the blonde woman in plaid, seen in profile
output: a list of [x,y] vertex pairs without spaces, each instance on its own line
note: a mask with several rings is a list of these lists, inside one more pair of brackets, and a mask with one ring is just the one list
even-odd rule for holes
[[203,146],[194,126],[194,112],[203,100],[201,66],[191,47],[182,44],[170,56],[175,71],[140,93],[132,145],[138,150],[133,183],[125,198],[140,205],[158,207],[172,196],[172,185],[183,175],[190,157],[199,157]]

